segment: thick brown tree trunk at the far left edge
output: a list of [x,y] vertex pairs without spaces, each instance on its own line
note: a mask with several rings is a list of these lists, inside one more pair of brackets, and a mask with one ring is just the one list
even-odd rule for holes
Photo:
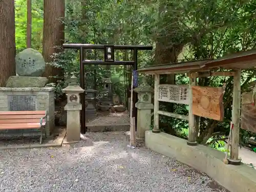
[[0,87],[15,75],[15,13],[14,1],[0,1]]

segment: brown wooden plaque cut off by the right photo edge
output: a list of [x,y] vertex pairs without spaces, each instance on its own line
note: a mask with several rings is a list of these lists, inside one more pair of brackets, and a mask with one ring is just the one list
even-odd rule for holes
[[[256,103],[253,106],[252,95],[252,92],[242,94],[241,129],[256,133]],[[255,96],[253,99],[255,102]]]

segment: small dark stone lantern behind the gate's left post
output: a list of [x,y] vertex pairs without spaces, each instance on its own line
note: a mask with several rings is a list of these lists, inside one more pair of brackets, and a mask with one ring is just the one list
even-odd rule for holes
[[86,119],[93,119],[97,116],[97,110],[95,109],[94,103],[97,100],[96,90],[88,89],[86,90]]

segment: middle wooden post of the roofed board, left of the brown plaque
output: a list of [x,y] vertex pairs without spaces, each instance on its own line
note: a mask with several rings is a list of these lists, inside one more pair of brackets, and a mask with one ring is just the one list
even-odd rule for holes
[[192,86],[195,86],[197,78],[193,78],[193,74],[189,77],[189,111],[188,111],[188,141],[187,145],[196,146],[196,128],[195,128],[195,115],[192,113],[193,95]]

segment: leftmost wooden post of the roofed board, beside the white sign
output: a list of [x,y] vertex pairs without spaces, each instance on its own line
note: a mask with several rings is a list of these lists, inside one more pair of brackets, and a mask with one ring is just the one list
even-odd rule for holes
[[152,130],[153,133],[160,133],[159,130],[159,101],[158,101],[158,86],[160,83],[160,75],[155,74],[155,94],[154,94],[154,128]]

